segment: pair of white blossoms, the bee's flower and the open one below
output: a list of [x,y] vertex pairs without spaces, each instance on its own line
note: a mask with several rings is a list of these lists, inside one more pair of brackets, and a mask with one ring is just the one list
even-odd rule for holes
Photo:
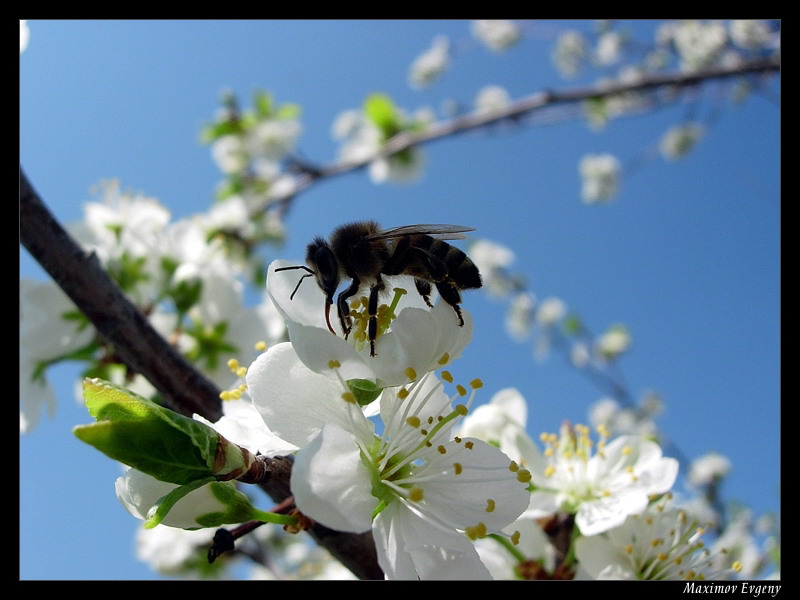
[[[290,342],[269,348],[246,379],[266,426],[299,448],[297,507],[332,529],[372,531],[387,578],[489,578],[473,540],[525,510],[529,474],[453,433],[482,386],[448,395],[443,383],[471,335],[469,313],[461,327],[449,305],[422,308],[395,282],[371,356],[355,333],[331,335],[324,294],[313,284],[293,291],[291,271],[275,272],[283,265],[270,267],[267,283]],[[358,321],[361,301],[351,310]]]

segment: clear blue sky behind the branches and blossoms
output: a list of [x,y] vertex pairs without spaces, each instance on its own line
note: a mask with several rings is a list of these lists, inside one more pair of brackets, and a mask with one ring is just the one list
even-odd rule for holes
[[[220,93],[249,105],[256,89],[302,107],[303,156],[335,157],[331,124],[371,92],[399,106],[438,110],[501,85],[514,98],[565,89],[552,39],[503,54],[471,41],[467,21],[31,21],[20,57],[20,159],[62,222],[78,220],[90,188],[116,177],[157,197],[175,218],[210,206],[221,179],[198,142]],[[589,21],[549,21],[540,31]],[[651,39],[652,24],[628,28]],[[407,72],[437,34],[463,49],[435,86],[411,89]],[[773,95],[780,88],[772,86]],[[604,131],[568,121],[440,140],[424,151],[413,185],[371,183],[365,173],[325,181],[296,200],[275,257],[301,260],[305,244],[336,225],[458,223],[506,244],[539,298],[558,296],[595,331],[622,322],[634,345],[622,360],[629,389],[658,391],[658,421],[689,457],[727,455],[726,497],[756,513],[777,511],[780,484],[780,107],[774,98],[732,105],[713,94],[626,117]],[[623,164],[688,115],[721,112],[685,160],[658,157],[625,176],[616,200],[580,200],[577,165],[610,152]],[[46,276],[20,248],[20,275]],[[465,298],[473,344],[454,372],[481,377],[488,401],[504,387],[529,402],[529,427],[586,422],[601,392],[558,357],[537,362],[530,343],[503,329],[505,304]],[[138,563],[139,522],[114,495],[118,466],[79,442],[89,422],[74,399],[77,368],[51,373],[58,412],[20,440],[20,577],[158,578]]]

